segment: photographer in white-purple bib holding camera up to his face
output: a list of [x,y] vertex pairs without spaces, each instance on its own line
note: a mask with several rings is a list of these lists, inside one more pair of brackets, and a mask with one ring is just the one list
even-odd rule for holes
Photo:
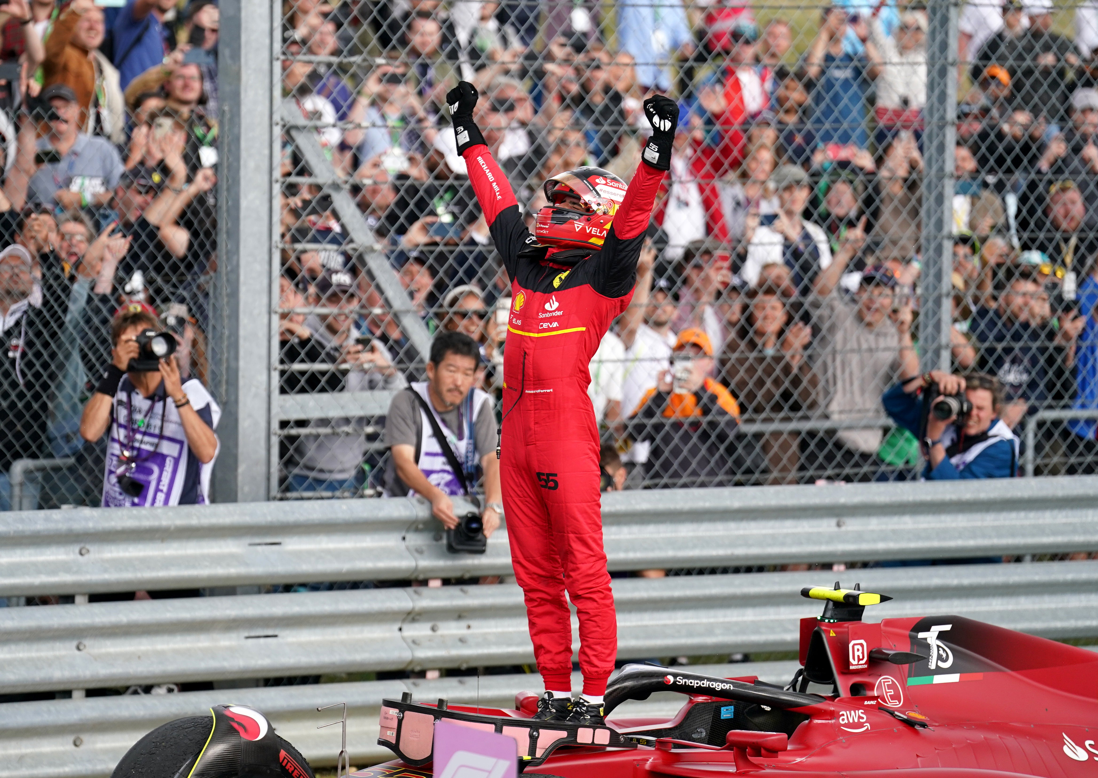
[[80,419],[86,441],[110,430],[103,507],[208,503],[217,403],[197,378],[181,380],[176,336],[147,311],[115,315],[111,345],[111,364]]

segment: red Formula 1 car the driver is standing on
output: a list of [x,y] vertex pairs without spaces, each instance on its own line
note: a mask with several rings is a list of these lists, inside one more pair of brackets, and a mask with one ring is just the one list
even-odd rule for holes
[[608,711],[653,691],[687,699],[671,720],[610,716],[607,727],[534,721],[533,692],[479,713],[405,696],[385,701],[378,741],[400,759],[356,775],[430,776],[446,718],[514,737],[527,778],[1098,778],[1095,653],[955,615],[864,623],[865,607],[889,598],[856,587],[802,594],[826,605],[802,620],[803,668],[785,688],[628,665]]

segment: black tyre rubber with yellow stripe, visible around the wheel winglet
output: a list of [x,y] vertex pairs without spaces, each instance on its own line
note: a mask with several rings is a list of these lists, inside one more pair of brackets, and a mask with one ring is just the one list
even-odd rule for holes
[[[273,737],[281,751],[293,759],[299,773],[291,776],[284,766],[272,765],[272,775],[278,770],[284,778],[315,778],[309,762],[296,748],[278,735]],[[193,765],[209,738],[209,715],[169,721],[137,741],[119,762],[111,778],[177,778],[180,773],[186,776],[190,767],[187,770],[181,768]]]

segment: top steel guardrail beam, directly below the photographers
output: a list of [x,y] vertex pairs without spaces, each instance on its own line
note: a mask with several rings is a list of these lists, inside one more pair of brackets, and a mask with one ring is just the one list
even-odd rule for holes
[[[1098,477],[626,491],[609,568],[1098,549]],[[463,510],[459,508],[459,511]],[[506,527],[448,554],[418,499],[0,513],[0,597],[511,573]]]

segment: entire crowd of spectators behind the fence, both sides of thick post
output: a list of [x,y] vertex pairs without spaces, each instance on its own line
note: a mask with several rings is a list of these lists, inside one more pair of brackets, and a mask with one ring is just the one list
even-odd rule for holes
[[[1042,409],[1098,409],[1096,8],[1074,24],[1050,0],[961,9],[953,368],[1001,385],[1015,431]],[[279,115],[303,130],[282,137],[279,170],[279,390],[347,397],[341,415],[282,424],[278,491],[385,491],[370,397],[424,378],[417,333],[471,336],[477,387],[498,397],[512,300],[448,125],[459,79],[482,95],[478,124],[528,222],[557,173],[628,179],[641,101],[679,101],[634,301],[591,366],[627,488],[918,477],[926,446],[882,396],[918,373],[921,301],[950,296],[921,279],[927,12],[785,11],[288,0]],[[0,14],[0,231],[30,256],[0,257],[18,420],[0,431],[0,504],[12,462],[46,456],[76,465],[38,503],[94,504],[105,441],[85,442],[79,418],[112,316],[173,312],[183,378],[209,382],[217,5]],[[332,175],[349,200],[317,182]],[[1039,432],[1039,471],[1098,469],[1095,421]]]

